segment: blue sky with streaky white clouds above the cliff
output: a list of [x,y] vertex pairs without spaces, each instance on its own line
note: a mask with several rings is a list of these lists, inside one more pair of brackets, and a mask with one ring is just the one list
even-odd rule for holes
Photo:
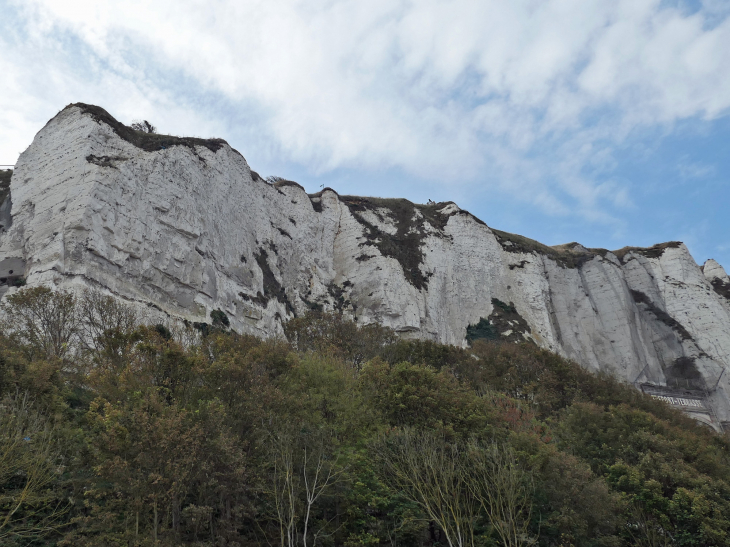
[[730,2],[0,0],[0,164],[66,104],[316,191],[730,269]]

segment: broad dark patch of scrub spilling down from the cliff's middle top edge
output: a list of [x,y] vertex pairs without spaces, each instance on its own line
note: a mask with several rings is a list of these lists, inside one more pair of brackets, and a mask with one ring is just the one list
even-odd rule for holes
[[[419,290],[426,288],[432,274],[421,270],[423,241],[429,234],[450,237],[444,229],[451,215],[440,212],[447,203],[416,205],[407,199],[357,196],[341,196],[340,200],[365,227],[366,242],[361,245],[374,246],[383,256],[395,258],[409,283]],[[372,212],[383,222],[392,222],[396,232],[389,234],[366,220],[366,211]]]

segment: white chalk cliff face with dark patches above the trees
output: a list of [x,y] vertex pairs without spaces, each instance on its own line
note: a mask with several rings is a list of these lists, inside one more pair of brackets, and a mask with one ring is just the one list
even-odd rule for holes
[[454,203],[307,195],[224,141],[145,136],[87,105],[20,156],[10,204],[5,290],[19,275],[92,286],[189,321],[221,309],[259,335],[311,308],[457,345],[479,324],[637,385],[707,390],[730,420],[730,279],[681,243],[546,247]]

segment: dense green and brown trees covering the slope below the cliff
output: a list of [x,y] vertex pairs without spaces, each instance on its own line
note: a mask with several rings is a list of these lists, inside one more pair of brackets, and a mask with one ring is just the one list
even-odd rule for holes
[[730,544],[728,440],[534,345],[3,308],[2,545]]

